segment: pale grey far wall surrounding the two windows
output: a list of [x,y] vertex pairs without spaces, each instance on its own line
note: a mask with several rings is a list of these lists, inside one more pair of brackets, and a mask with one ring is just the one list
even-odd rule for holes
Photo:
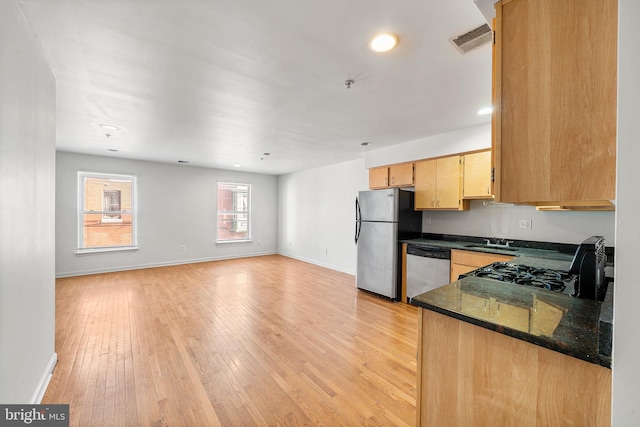
[[[56,163],[58,277],[276,253],[275,176],[66,152]],[[75,253],[78,171],[138,176],[138,250]],[[251,184],[252,242],[216,244],[217,181]]]

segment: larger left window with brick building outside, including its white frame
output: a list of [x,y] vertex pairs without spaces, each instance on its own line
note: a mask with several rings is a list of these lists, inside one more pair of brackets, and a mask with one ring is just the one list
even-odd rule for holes
[[136,177],[78,172],[78,252],[136,249]]

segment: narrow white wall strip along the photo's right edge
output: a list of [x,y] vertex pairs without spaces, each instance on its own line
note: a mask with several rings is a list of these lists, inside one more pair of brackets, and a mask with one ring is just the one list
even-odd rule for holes
[[640,2],[619,0],[618,191],[613,334],[613,425],[640,420]]

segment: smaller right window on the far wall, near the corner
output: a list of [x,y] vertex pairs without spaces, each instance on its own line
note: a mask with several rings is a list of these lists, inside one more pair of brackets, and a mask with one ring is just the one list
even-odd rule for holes
[[218,243],[251,240],[251,185],[218,183]]

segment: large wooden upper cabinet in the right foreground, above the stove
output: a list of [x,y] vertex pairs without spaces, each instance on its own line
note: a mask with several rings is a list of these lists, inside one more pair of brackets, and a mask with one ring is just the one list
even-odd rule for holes
[[497,201],[615,199],[617,15],[617,0],[496,3]]

